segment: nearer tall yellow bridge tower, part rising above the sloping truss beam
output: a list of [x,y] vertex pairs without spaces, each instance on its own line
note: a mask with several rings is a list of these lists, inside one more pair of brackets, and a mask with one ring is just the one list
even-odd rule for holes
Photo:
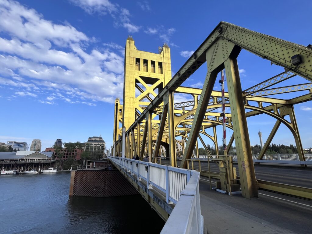
[[128,37],[124,53],[124,128],[128,129],[133,124],[171,77],[170,48],[167,44],[157,54],[139,51],[133,38]]

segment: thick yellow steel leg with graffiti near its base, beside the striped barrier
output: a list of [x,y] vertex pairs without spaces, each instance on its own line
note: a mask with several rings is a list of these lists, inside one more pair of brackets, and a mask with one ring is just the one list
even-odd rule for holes
[[234,58],[228,58],[224,65],[232,113],[241,192],[243,197],[252,198],[258,197],[258,185],[252,160],[244,99],[236,60],[237,55]]

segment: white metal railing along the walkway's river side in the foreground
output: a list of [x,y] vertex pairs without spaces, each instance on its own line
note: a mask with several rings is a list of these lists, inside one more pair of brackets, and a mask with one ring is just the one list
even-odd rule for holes
[[108,158],[131,176],[136,175],[138,181],[144,180],[148,189],[157,188],[166,194],[168,204],[175,204],[161,231],[162,234],[203,233],[199,172],[129,158]]

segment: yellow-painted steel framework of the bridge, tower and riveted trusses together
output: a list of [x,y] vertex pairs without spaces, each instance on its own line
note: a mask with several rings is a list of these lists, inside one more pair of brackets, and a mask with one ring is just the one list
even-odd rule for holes
[[[270,45],[270,48],[268,45]],[[233,48],[235,53],[233,53]],[[241,48],[269,59],[274,64],[283,66],[287,72],[283,72],[242,92],[236,58],[234,57],[233,59],[232,57],[233,54],[238,54]],[[170,49],[168,46],[163,46],[159,54],[154,54],[137,50],[133,39],[128,38],[125,50],[124,105],[120,105],[119,100],[115,101],[114,141],[117,141],[116,148],[119,152],[121,147],[119,140],[121,128],[119,128],[119,123],[122,121],[127,129],[126,151],[128,157],[133,155],[135,145],[137,145],[137,155],[143,157],[146,149],[151,160],[153,149],[153,156],[155,156],[162,150],[160,145],[166,143],[169,144],[168,150],[166,148],[167,157],[170,156],[171,165],[176,166],[175,137],[182,136],[183,158],[181,166],[186,167],[186,160],[192,156],[193,150],[196,149],[198,151],[197,137],[200,137],[199,133],[212,139],[216,149],[218,149],[216,126],[221,124],[218,118],[220,113],[217,111],[221,107],[221,92],[213,91],[212,87],[217,73],[221,71],[225,62],[227,76],[231,75],[231,80],[228,80],[230,90],[229,93],[225,93],[226,106],[231,106],[231,113],[226,114],[226,122],[228,128],[234,129],[228,150],[234,139],[235,142],[238,141],[236,142],[236,148],[238,145],[242,148],[238,150],[238,158],[240,174],[243,174],[241,177],[242,190],[245,191],[243,196],[256,196],[257,184],[253,175],[254,172],[252,172],[251,152],[248,149],[250,148],[250,143],[246,117],[258,114],[274,117],[279,123],[285,124],[290,129],[294,135],[297,148],[302,149],[292,105],[312,100],[311,94],[290,100],[268,98],[261,95],[285,93],[290,91],[290,89],[294,89],[294,91],[309,90],[310,84],[293,85],[270,90],[265,90],[265,88],[276,85],[296,74],[307,80],[312,80],[312,71],[306,69],[312,66],[311,53],[312,50],[305,46],[221,22],[171,79]],[[299,54],[302,63],[294,66],[290,57],[296,54]],[[232,60],[229,59],[230,55]],[[207,77],[203,89],[182,87],[181,84],[205,61],[207,61]],[[157,69],[158,65],[159,69]],[[209,77],[212,79],[209,79]],[[135,95],[135,91],[137,91],[137,95]],[[173,93],[191,94],[193,100],[174,104]],[[198,95],[200,95],[199,100]],[[237,100],[239,101],[238,103]],[[171,104],[169,103],[170,101]],[[122,111],[120,111],[120,107],[123,108]],[[168,120],[162,121],[161,118],[163,116],[161,116],[160,120],[155,119],[157,115],[161,115],[164,111],[163,109],[165,109],[164,107],[168,108]],[[237,107],[239,110],[236,110]],[[123,115],[122,118],[121,115]],[[285,115],[290,117],[290,123],[285,120]],[[144,129],[142,140],[140,128]],[[212,128],[214,136],[206,133],[208,128]],[[276,130],[272,130],[271,138],[273,138]],[[239,137],[242,138],[237,139]],[[184,147],[186,139],[188,141]],[[206,146],[202,139],[201,142]],[[300,159],[305,160],[303,151],[299,154]],[[222,165],[224,164],[222,163]],[[244,172],[244,165],[249,172]]]

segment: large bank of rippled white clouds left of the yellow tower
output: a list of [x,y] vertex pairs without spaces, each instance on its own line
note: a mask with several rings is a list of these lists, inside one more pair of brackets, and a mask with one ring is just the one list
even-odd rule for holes
[[[107,12],[114,10],[110,4],[106,6]],[[48,91],[51,98],[50,93],[55,90],[64,101],[78,97],[113,103],[115,97],[122,96],[124,59],[111,51],[117,49],[119,53],[121,46],[110,43],[92,49],[94,40],[83,32],[68,24],[47,21],[18,2],[0,1],[0,12],[0,31],[4,32],[0,37],[3,86],[14,87],[18,95],[33,97]],[[123,12],[127,20],[129,12]],[[85,104],[91,105],[87,101]]]

